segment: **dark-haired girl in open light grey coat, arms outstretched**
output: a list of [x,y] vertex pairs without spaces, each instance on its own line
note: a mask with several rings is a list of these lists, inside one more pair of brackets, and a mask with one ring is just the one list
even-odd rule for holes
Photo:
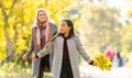
[[54,37],[45,47],[40,51],[33,60],[54,52],[53,58],[53,78],[80,78],[78,52],[85,60],[94,65],[84,49],[80,40],[74,34],[74,25],[70,20],[63,20],[61,23],[61,34]]

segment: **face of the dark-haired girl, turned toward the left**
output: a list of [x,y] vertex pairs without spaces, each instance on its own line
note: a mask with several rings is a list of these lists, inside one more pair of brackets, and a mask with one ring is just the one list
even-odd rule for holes
[[59,32],[68,35],[69,31],[70,31],[70,26],[67,25],[67,22],[62,21]]

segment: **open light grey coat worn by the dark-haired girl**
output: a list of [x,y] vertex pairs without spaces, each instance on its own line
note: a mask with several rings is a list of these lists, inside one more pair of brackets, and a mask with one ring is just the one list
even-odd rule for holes
[[[40,51],[37,55],[38,58],[54,52],[53,58],[53,78],[59,78],[62,70],[62,60],[63,60],[63,44],[64,38],[62,36],[57,36],[53,42],[45,46],[42,51]],[[79,63],[78,63],[78,53],[85,58],[86,62],[90,63],[91,59],[87,55],[84,49],[80,40],[78,36],[72,36],[67,40],[68,54],[72,65],[72,70],[74,78],[80,78],[79,76]]]

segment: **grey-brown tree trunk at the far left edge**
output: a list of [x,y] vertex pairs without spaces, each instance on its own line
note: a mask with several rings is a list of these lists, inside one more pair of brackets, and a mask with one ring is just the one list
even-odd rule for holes
[[4,62],[9,62],[9,60],[14,60],[15,59],[15,54],[14,54],[14,49],[13,49],[13,43],[10,38],[10,33],[8,32],[8,27],[9,27],[9,16],[7,12],[6,12],[6,8],[2,7],[2,4],[0,4],[0,8],[2,10],[2,20],[4,21],[4,37],[7,40],[7,44],[6,44],[6,53],[7,53],[7,58]]

